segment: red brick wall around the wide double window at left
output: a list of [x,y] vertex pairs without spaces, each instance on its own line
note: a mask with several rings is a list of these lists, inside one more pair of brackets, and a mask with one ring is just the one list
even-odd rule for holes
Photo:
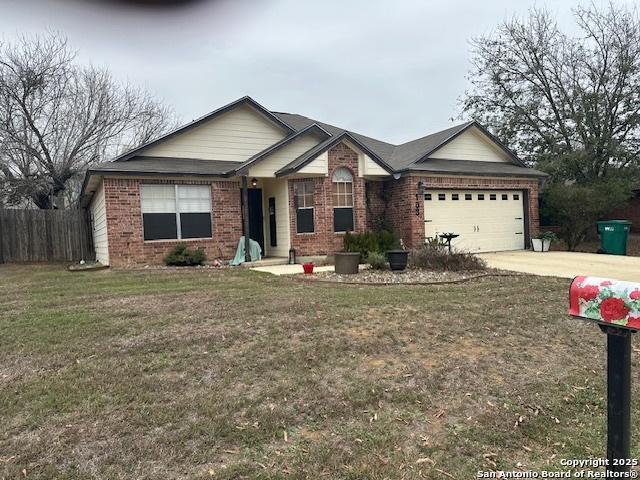
[[[141,183],[210,185],[213,238],[205,240],[145,242],[140,207]],[[203,247],[208,259],[231,258],[242,235],[240,185],[227,181],[174,181],[123,178],[104,179],[109,239],[109,263],[113,267],[159,265],[178,243]]]

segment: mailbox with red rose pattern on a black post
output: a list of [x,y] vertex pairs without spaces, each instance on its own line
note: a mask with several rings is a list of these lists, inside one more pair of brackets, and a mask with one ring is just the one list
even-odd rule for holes
[[607,334],[607,471],[628,472],[631,442],[631,335],[640,330],[640,283],[576,277],[569,314]]

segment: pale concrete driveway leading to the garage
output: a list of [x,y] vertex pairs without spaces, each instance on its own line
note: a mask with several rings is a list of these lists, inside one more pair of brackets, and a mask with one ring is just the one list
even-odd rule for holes
[[490,267],[551,277],[573,278],[578,275],[640,282],[640,257],[598,255],[579,252],[482,253]]

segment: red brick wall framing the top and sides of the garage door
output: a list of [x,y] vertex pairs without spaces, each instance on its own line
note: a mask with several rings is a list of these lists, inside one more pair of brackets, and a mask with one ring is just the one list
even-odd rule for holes
[[424,201],[418,194],[420,181],[424,182],[426,188],[528,190],[529,232],[533,235],[540,228],[537,180],[412,175],[400,180],[390,180],[387,187],[390,194],[387,217],[394,224],[400,238],[410,248],[416,248],[424,242]]

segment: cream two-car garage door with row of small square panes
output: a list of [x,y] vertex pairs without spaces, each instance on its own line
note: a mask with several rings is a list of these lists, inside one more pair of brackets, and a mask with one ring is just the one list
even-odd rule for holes
[[524,249],[520,190],[427,190],[425,237],[457,233],[452,245],[468,252]]

